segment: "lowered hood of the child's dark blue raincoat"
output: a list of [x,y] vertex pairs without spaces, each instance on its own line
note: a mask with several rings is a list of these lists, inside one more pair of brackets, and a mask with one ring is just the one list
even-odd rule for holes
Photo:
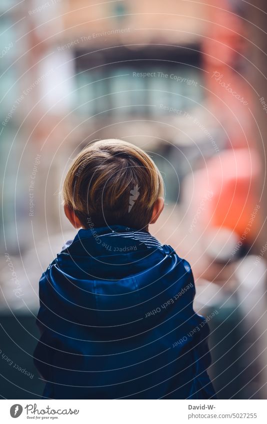
[[147,231],[82,229],[43,274],[40,296],[60,320],[121,337],[145,330],[146,314],[155,310],[156,317],[160,305],[176,294],[177,283],[182,287],[186,279],[185,261]]

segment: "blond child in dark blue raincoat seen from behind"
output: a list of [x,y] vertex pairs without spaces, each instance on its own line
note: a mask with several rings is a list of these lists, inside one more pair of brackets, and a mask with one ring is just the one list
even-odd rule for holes
[[42,274],[34,362],[50,399],[211,399],[189,264],[151,236],[162,177],[140,148],[83,149],[63,186],[79,229]]

